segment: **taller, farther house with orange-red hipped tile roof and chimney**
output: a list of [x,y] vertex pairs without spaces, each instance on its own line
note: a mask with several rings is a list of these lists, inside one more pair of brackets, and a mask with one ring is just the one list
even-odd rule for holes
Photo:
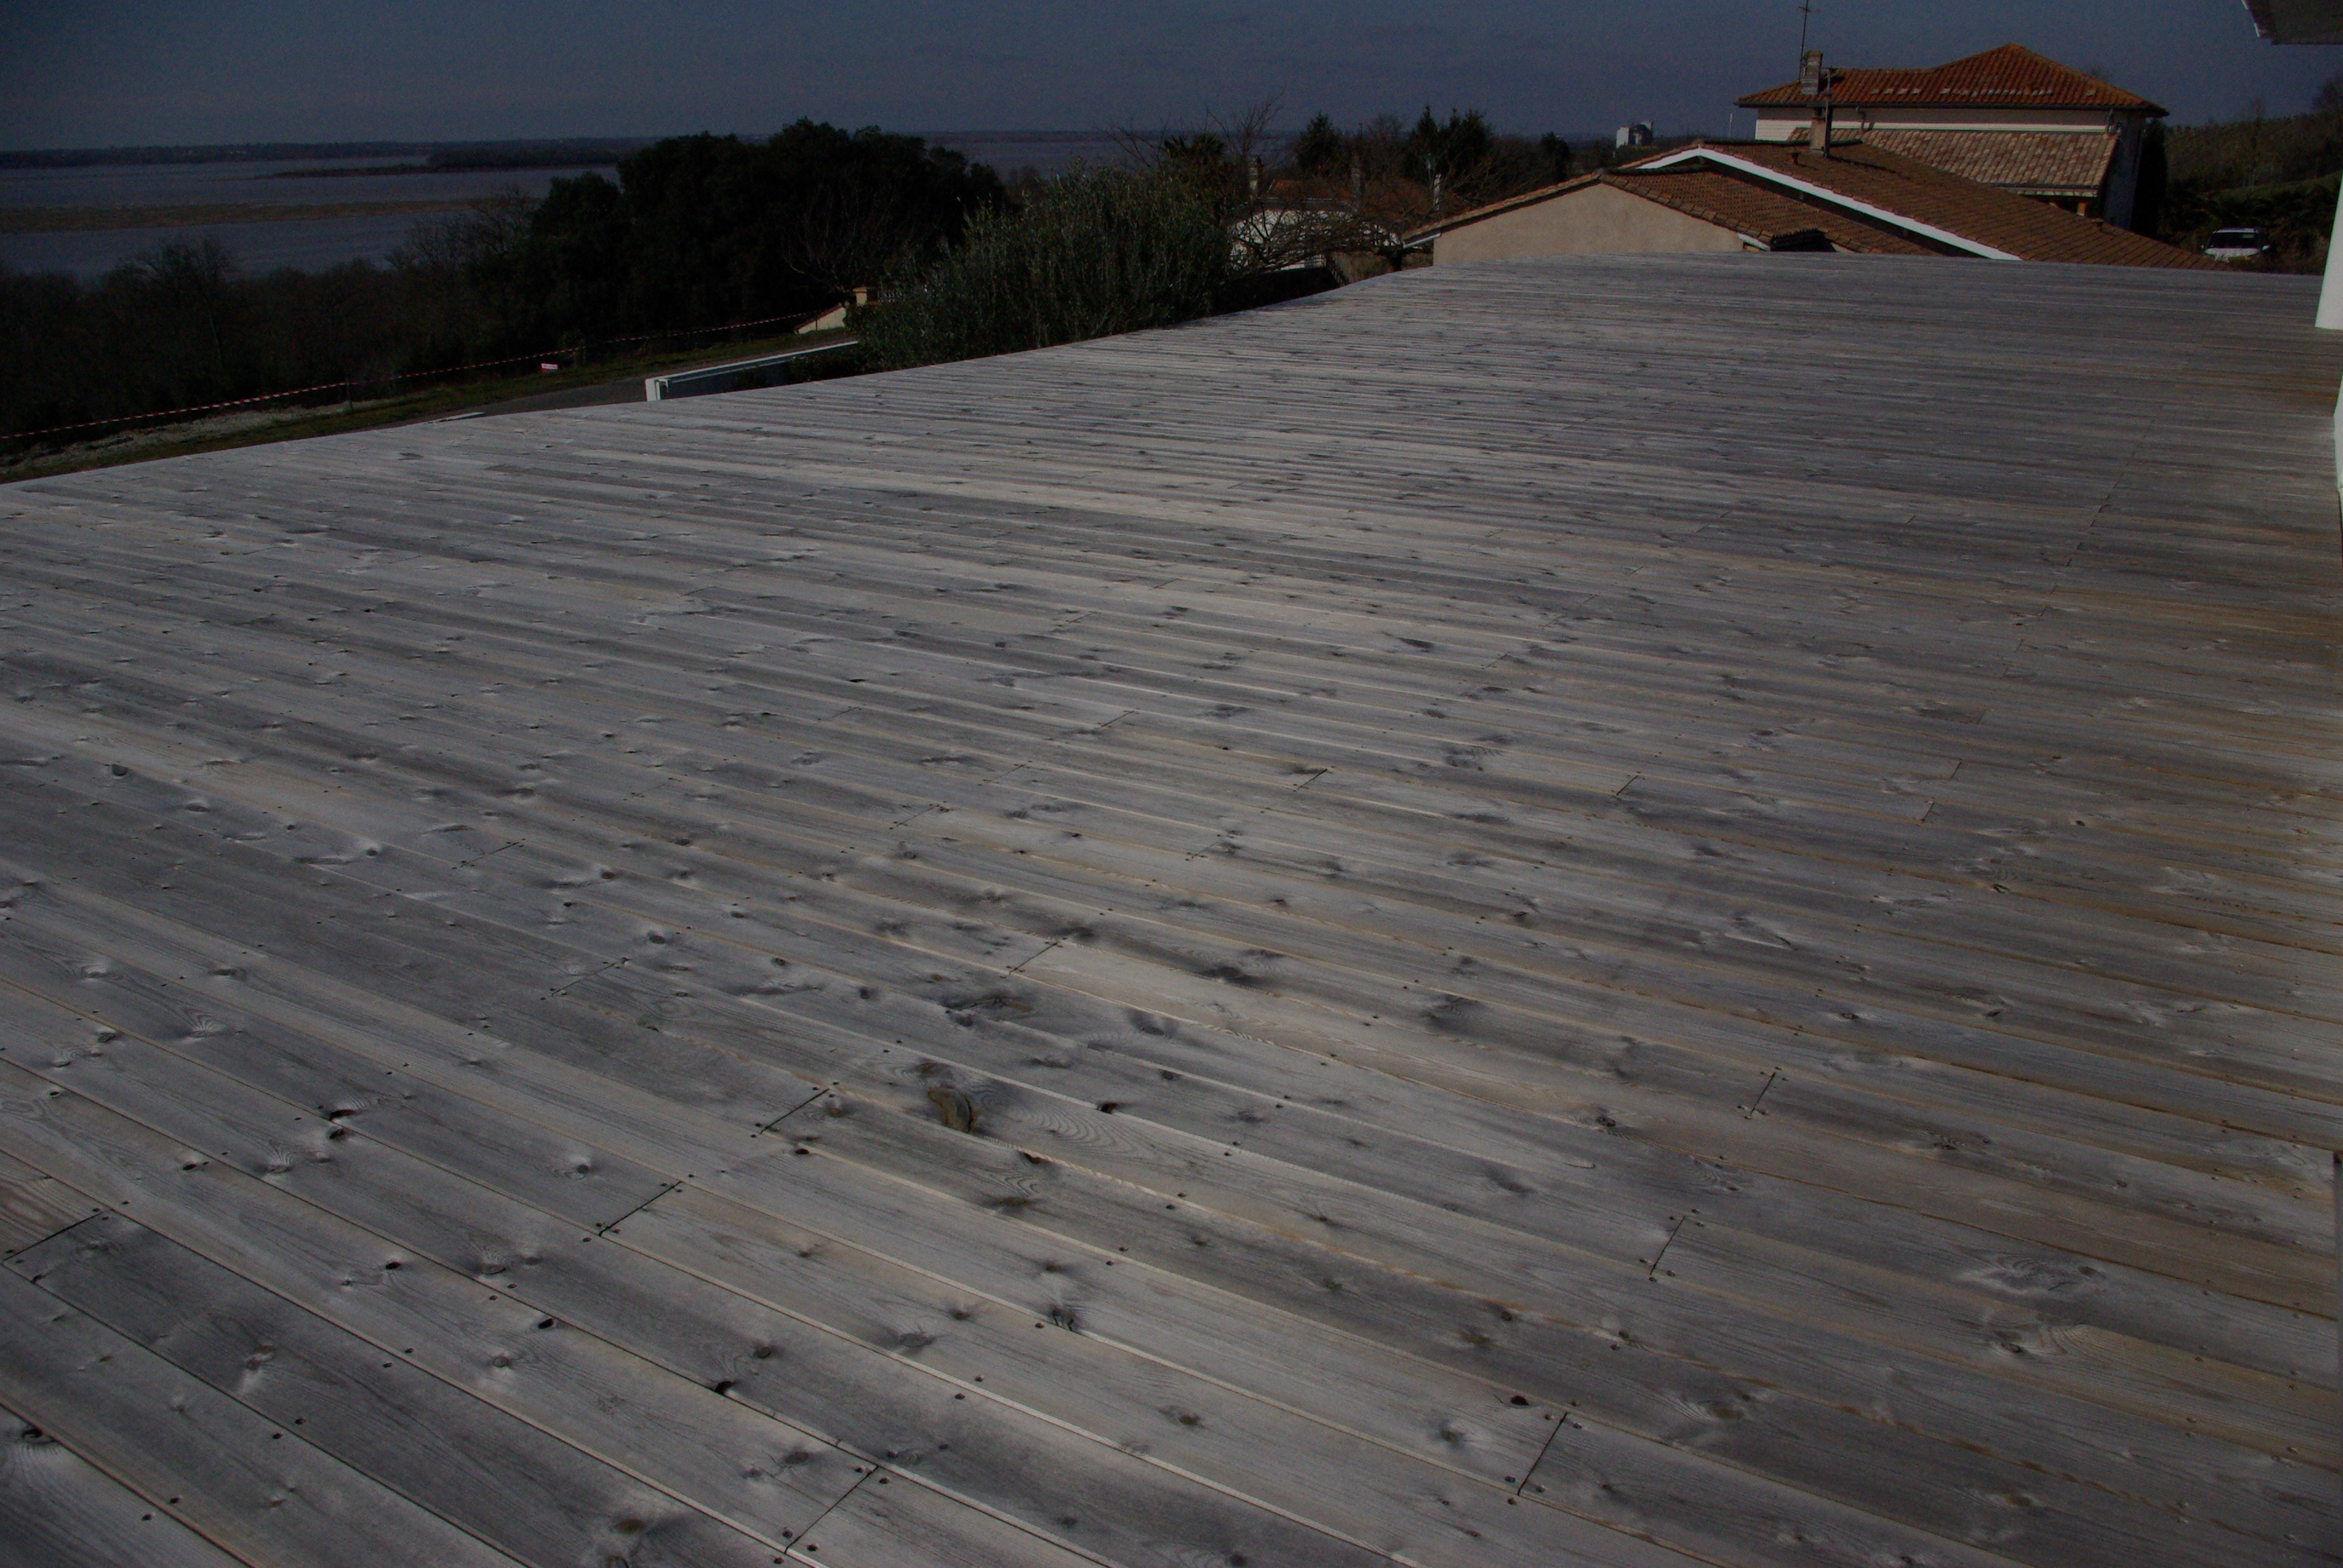
[[1757,141],[1804,143],[1825,108],[1863,145],[2130,227],[2139,155],[2165,108],[2020,45],[1924,70],[1832,70],[1741,98]]

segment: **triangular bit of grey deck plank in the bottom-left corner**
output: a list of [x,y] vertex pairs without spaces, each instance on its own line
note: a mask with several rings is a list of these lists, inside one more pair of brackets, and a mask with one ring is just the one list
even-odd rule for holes
[[21,1568],[232,1568],[166,1512],[0,1409],[0,1540]]

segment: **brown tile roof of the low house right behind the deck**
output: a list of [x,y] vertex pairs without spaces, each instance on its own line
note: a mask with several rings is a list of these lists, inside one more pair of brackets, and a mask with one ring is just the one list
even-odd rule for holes
[[[1457,213],[1408,239],[1427,239],[1523,206],[1537,206],[1593,183],[1633,192],[1753,239],[1818,227],[1842,251],[1959,253],[1959,246],[1907,227],[1924,225],[2017,260],[2116,267],[2219,265],[2195,251],[2181,251],[2097,218],[2076,218],[2031,197],[1966,180],[1959,173],[1860,141],[1832,141],[1830,157],[1813,157],[1806,148],[1778,141],[1694,143],[1659,152],[1640,164],[1584,173],[1560,185]],[[1797,185],[1811,190],[1797,190]],[[1872,211],[1851,211],[1835,202]]]

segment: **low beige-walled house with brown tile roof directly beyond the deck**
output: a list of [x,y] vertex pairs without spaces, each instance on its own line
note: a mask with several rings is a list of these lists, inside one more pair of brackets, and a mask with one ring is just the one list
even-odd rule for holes
[[1867,141],[1694,143],[1441,220],[1434,265],[1657,251],[1858,251],[2123,267],[2209,267]]

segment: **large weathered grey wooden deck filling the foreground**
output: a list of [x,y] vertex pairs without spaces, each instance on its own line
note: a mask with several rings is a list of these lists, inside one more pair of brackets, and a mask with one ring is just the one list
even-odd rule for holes
[[0,490],[9,1563],[2334,1561],[2313,284]]

